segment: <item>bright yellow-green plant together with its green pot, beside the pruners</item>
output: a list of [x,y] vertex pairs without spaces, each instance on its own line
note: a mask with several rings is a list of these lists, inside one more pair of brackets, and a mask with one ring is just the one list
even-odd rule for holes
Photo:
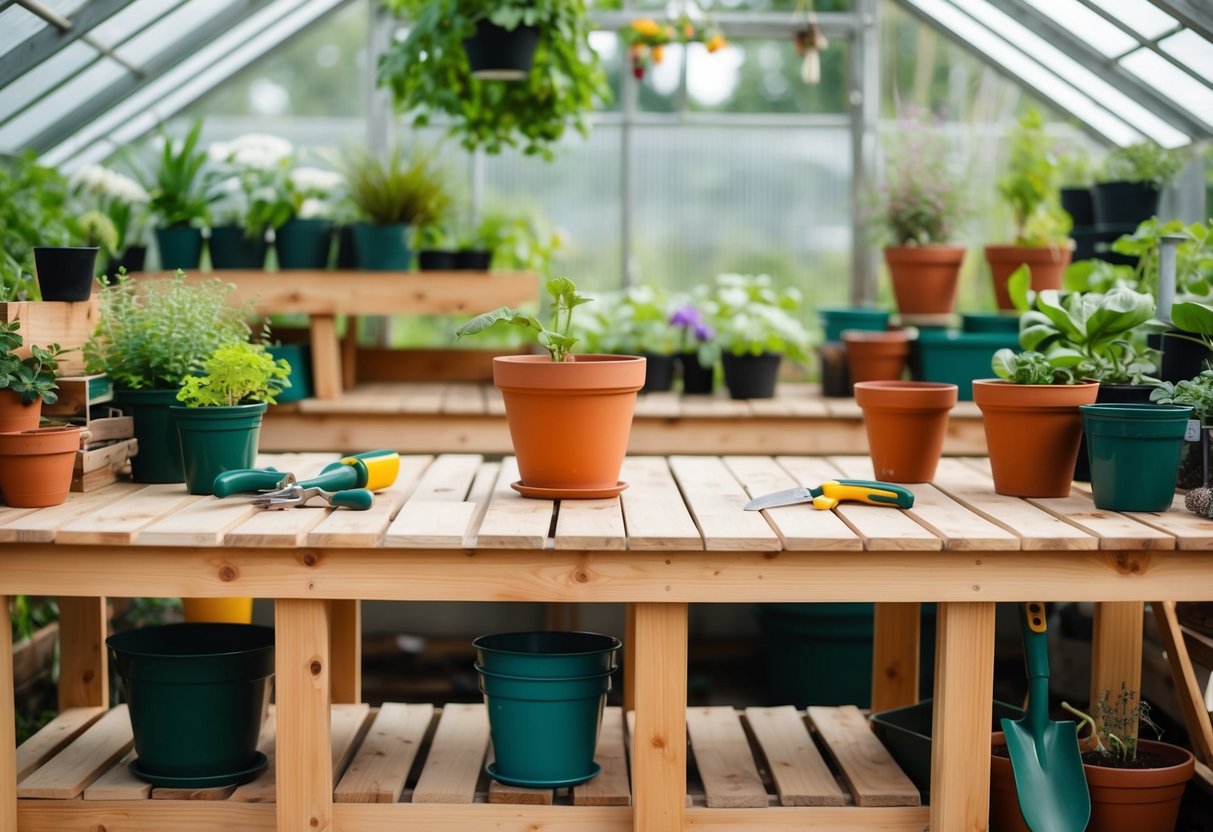
[[203,365],[206,375],[182,378],[169,408],[181,437],[181,460],[190,494],[215,494],[224,471],[251,468],[257,460],[261,417],[274,395],[290,386],[290,364],[261,344],[218,347]]

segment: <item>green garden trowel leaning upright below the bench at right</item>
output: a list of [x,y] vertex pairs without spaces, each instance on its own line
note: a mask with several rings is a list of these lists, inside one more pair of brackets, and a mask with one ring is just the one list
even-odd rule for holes
[[1090,793],[1072,722],[1049,720],[1049,650],[1044,604],[1024,604],[1020,621],[1027,659],[1027,712],[1003,719],[1019,809],[1032,832],[1082,832]]

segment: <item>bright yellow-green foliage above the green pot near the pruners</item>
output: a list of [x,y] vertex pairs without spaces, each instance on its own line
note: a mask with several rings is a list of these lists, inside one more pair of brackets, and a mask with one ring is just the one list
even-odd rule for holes
[[262,344],[238,341],[223,344],[203,364],[204,376],[186,376],[177,401],[187,408],[230,408],[264,401],[291,386],[291,365],[274,358]]

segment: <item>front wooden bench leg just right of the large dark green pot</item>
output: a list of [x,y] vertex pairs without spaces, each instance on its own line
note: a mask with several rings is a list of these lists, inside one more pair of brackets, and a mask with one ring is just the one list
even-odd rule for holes
[[274,602],[278,828],[332,828],[329,603]]

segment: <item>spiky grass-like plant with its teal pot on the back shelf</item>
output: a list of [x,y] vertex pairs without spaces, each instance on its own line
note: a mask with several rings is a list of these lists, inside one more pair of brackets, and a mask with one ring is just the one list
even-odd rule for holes
[[364,269],[405,272],[412,261],[410,226],[432,226],[451,206],[434,150],[415,147],[408,154],[393,147],[383,159],[365,149],[342,158],[342,173],[359,222],[354,251]]

